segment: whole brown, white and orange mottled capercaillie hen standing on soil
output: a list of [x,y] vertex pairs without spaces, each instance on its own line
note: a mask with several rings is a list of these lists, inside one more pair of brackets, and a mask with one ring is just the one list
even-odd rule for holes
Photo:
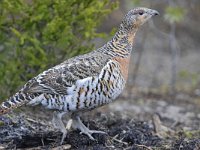
[[103,131],[89,130],[80,120],[82,111],[108,104],[122,92],[138,28],[159,13],[148,8],[130,10],[114,37],[102,47],[50,68],[29,80],[15,95],[0,105],[0,115],[22,105],[41,105],[53,110],[53,123],[63,133],[67,130],[62,116],[70,114],[72,127],[88,135]]

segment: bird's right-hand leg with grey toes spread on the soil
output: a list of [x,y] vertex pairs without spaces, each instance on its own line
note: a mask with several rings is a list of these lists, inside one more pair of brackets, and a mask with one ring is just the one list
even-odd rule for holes
[[93,133],[101,133],[101,134],[107,134],[106,132],[103,131],[97,131],[97,130],[90,130],[88,129],[81,121],[79,116],[73,116],[72,117],[72,127],[75,129],[79,129],[81,132],[80,134],[86,134],[91,140],[95,140],[92,137]]

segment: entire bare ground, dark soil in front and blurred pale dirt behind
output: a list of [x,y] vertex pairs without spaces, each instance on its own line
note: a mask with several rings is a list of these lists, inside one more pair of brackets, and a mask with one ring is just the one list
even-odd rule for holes
[[46,110],[1,116],[0,149],[200,149],[198,96],[136,93],[124,93],[118,101],[81,117],[90,129],[107,132],[94,134],[96,141],[69,131],[60,146],[61,133],[52,127],[52,114]]

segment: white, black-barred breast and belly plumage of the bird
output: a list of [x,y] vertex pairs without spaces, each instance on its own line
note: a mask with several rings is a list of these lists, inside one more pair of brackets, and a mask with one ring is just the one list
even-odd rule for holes
[[68,91],[73,91],[71,110],[92,109],[110,103],[119,96],[124,86],[125,79],[117,64],[111,70],[105,68],[99,76],[80,80]]

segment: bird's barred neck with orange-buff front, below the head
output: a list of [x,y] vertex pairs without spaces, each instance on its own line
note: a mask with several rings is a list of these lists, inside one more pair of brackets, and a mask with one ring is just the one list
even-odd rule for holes
[[119,57],[129,56],[133,48],[136,31],[137,29],[127,30],[120,27],[113,38],[102,47],[103,52]]

